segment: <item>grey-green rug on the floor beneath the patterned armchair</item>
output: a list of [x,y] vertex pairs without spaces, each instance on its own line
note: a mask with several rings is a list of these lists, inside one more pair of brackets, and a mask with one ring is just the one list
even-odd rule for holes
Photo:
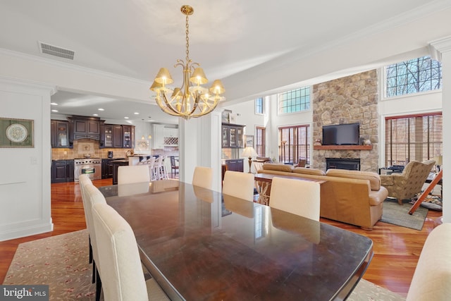
[[396,199],[385,199],[383,202],[381,221],[421,231],[424,219],[426,219],[426,215],[428,215],[428,209],[418,207],[418,209],[410,215],[409,210],[411,207],[412,204],[409,203],[409,200],[404,200],[401,206]]

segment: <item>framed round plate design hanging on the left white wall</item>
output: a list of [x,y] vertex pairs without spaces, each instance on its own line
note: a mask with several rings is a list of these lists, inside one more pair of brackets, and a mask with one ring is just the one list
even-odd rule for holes
[[0,147],[35,147],[33,121],[0,117]]

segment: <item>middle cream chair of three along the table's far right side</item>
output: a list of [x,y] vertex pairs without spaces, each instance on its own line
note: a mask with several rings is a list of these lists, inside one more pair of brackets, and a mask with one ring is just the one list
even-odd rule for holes
[[223,194],[254,200],[254,174],[240,171],[226,171],[224,174]]

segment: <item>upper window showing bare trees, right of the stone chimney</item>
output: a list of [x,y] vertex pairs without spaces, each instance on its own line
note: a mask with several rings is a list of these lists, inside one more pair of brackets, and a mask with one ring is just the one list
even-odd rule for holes
[[442,87],[442,66],[439,61],[423,56],[385,67],[387,97],[412,94]]

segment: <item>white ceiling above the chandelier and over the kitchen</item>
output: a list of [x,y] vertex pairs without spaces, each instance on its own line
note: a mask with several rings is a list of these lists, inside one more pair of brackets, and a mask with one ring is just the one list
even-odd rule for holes
[[[451,0],[2,0],[0,49],[149,85],[165,66],[178,83],[183,4],[194,7],[190,59],[210,81],[223,80],[230,103],[381,66],[451,35]],[[41,54],[38,41],[75,51],[74,60]],[[58,113],[90,115],[101,107],[106,119],[167,117],[150,102],[123,100],[70,91],[52,97]]]

